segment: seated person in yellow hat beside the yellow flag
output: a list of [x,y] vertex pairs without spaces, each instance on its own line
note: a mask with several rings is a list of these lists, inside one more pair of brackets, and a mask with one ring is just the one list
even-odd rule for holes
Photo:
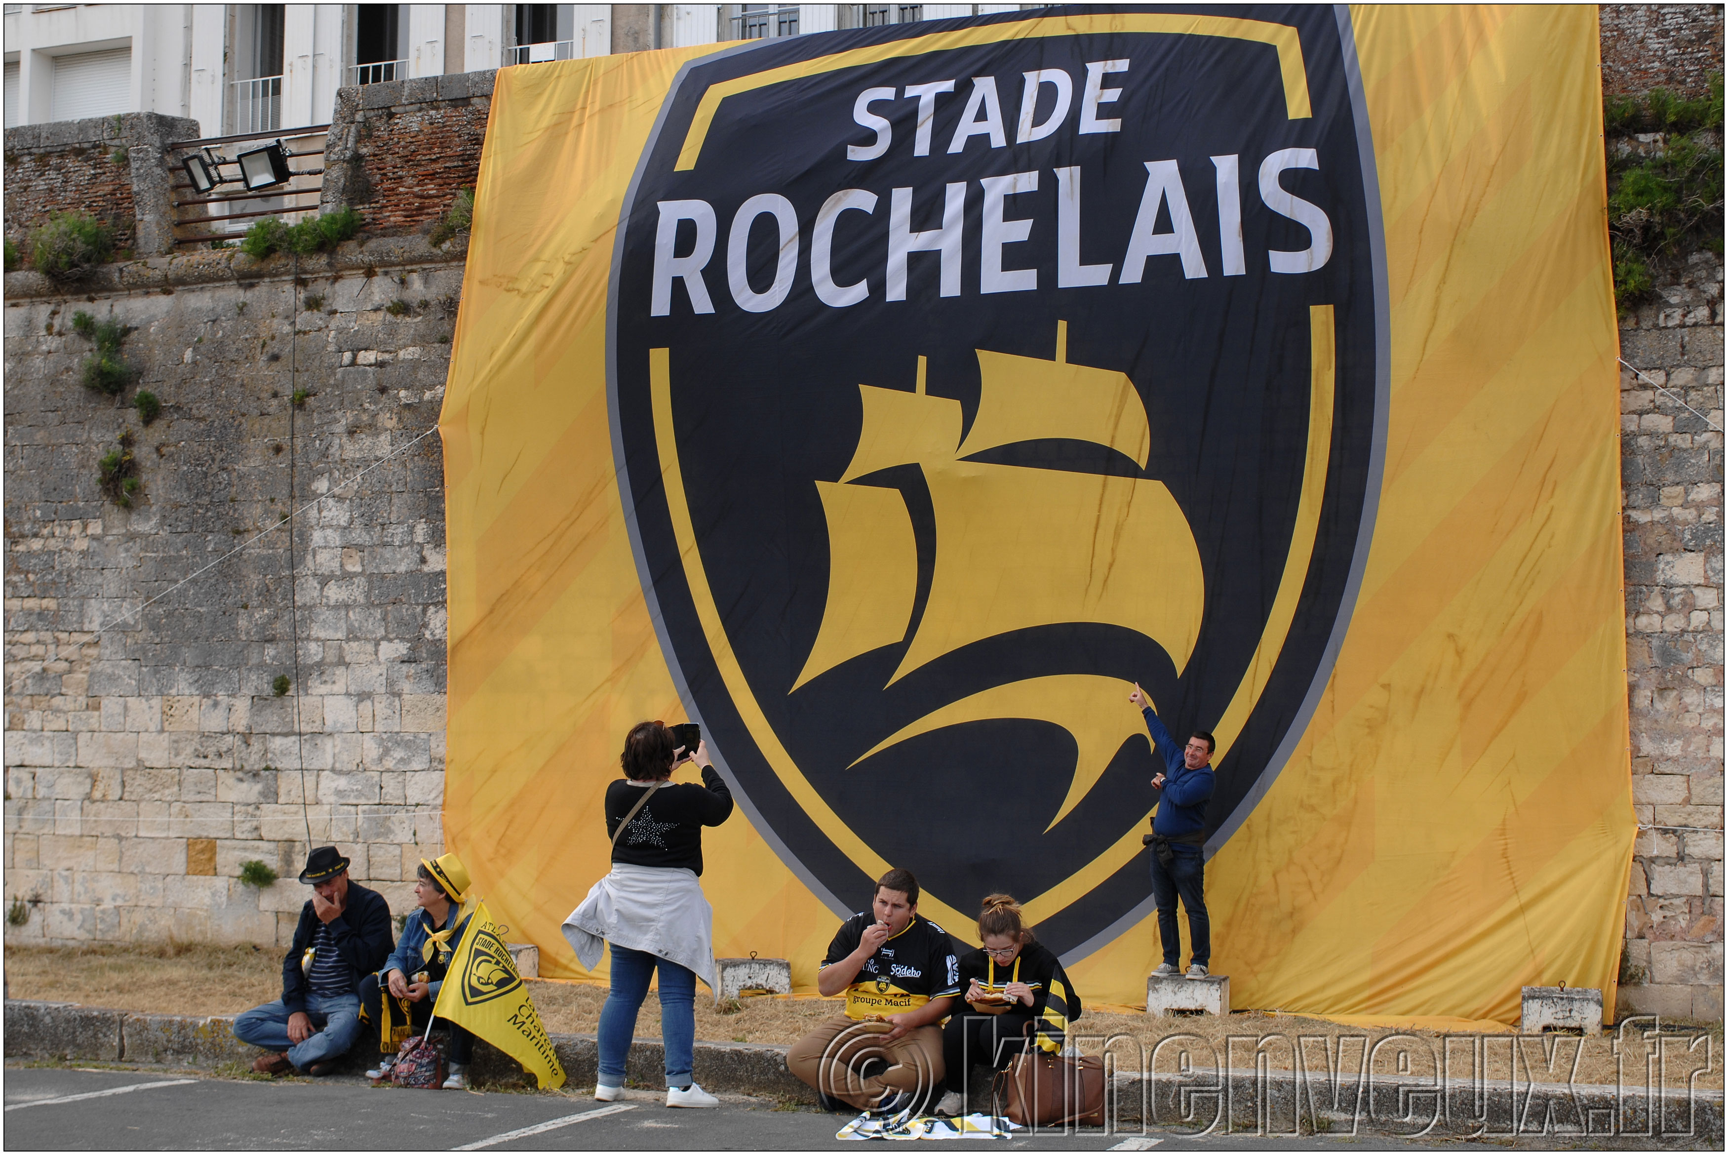
[[[378,1029],[378,1065],[366,1072],[368,1079],[385,1079],[396,1065],[403,1043],[425,1029],[437,1005],[437,992],[449,972],[449,960],[468,928],[468,915],[461,908],[468,896],[468,868],[454,854],[420,859],[415,880],[415,901],[420,909],[408,916],[403,937],[384,968],[359,980],[359,1005],[365,1022]],[[389,998],[385,998],[389,994]],[[473,1056],[473,1036],[449,1025],[449,1069],[446,1091],[468,1089],[468,1060]]]

